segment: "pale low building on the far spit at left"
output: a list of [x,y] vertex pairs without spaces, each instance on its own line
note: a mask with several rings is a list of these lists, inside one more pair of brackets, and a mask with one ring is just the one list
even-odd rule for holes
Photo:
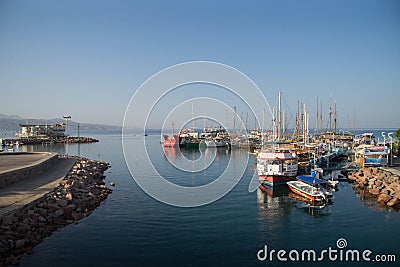
[[20,124],[21,138],[52,139],[65,137],[65,124]]

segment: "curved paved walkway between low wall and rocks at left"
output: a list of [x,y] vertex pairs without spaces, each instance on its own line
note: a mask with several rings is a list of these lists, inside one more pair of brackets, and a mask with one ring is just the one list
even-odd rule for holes
[[74,163],[71,158],[58,159],[37,177],[0,189],[0,218],[52,191]]

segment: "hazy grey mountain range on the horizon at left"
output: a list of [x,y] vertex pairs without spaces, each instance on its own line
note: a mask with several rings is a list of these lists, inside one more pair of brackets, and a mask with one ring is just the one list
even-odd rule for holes
[[[18,115],[5,115],[0,114],[0,130],[7,131],[20,131],[20,124],[55,124],[55,123],[65,123],[62,118],[56,119],[24,119]],[[122,127],[117,125],[107,125],[107,124],[92,124],[92,123],[79,123],[80,130],[120,130]],[[68,128],[70,130],[78,129],[78,123],[69,120]]]

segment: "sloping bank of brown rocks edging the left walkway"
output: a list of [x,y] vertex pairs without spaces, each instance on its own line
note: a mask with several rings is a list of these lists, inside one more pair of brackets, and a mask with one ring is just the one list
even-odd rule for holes
[[76,163],[54,190],[0,221],[0,266],[18,265],[22,256],[57,229],[77,223],[105,200],[108,163],[76,157]]

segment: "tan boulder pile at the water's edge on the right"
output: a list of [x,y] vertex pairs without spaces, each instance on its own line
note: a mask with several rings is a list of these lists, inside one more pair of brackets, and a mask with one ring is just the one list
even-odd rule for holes
[[378,203],[400,209],[400,178],[390,172],[378,168],[362,168],[348,174],[354,182],[354,189],[365,198],[375,199]]

